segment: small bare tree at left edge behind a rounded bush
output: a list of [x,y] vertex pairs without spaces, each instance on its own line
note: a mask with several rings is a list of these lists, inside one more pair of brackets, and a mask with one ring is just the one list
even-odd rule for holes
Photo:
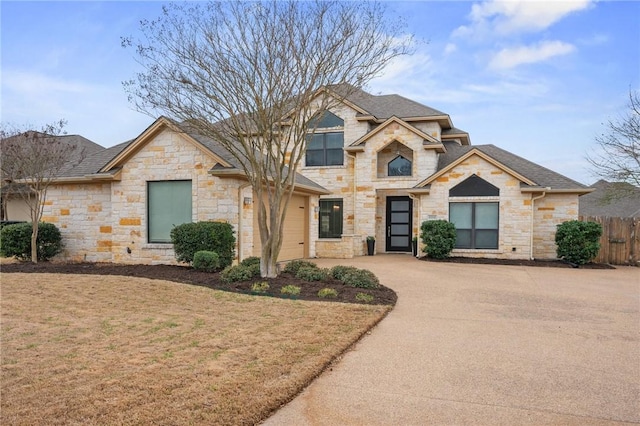
[[47,124],[40,131],[3,125],[0,130],[2,180],[8,194],[18,195],[31,217],[31,261],[38,262],[38,223],[42,219],[47,190],[72,159],[80,159],[80,148],[59,138],[65,120]]

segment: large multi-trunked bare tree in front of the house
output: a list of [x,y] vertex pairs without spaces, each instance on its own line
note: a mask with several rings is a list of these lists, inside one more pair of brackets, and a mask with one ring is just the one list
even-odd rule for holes
[[143,38],[123,39],[144,69],[124,83],[137,109],[188,123],[246,174],[263,277],[277,275],[313,118],[409,53],[412,37],[402,28],[370,2],[214,2],[164,7],[159,19],[141,23]]

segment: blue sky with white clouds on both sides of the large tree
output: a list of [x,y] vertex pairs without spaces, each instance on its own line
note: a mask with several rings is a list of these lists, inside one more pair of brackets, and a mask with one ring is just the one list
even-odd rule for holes
[[[138,70],[120,37],[159,2],[0,2],[2,122],[67,132],[103,146],[152,117],[121,82]],[[390,2],[422,42],[369,85],[450,114],[474,145],[494,144],[579,182],[604,123],[640,87],[640,2]]]

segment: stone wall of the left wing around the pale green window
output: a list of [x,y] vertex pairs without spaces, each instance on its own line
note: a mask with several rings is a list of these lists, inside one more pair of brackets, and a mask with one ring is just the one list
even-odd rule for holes
[[[252,206],[239,205],[242,182],[207,173],[214,164],[212,157],[184,137],[163,130],[125,162],[120,181],[52,186],[43,220],[60,228],[63,259],[174,264],[171,244],[147,242],[147,181],[188,179],[192,181],[193,220],[231,223],[236,238],[247,237],[241,250],[245,257],[250,256]],[[251,196],[250,188],[243,191],[244,196]],[[238,235],[240,208],[243,230]]]

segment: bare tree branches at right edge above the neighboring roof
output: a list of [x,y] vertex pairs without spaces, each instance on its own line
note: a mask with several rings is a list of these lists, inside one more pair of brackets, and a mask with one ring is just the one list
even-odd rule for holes
[[637,91],[629,92],[628,107],[626,115],[616,121],[609,120],[606,133],[596,137],[598,151],[588,155],[587,160],[595,175],[640,187],[640,97]]

